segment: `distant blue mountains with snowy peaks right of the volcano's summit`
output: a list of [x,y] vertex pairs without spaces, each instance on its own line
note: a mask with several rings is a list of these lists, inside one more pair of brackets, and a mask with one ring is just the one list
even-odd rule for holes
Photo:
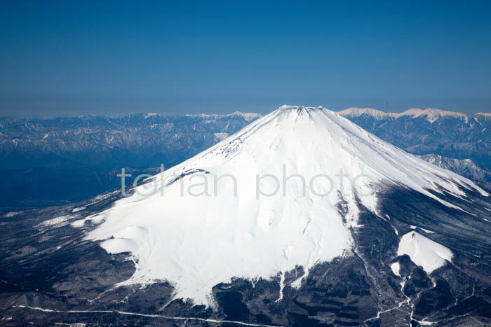
[[[488,172],[491,167],[491,113],[466,115],[438,109],[384,113],[375,109],[349,108],[339,114],[410,153],[471,159],[474,165]],[[462,162],[457,166],[464,165]],[[450,167],[453,165],[447,168]],[[472,178],[465,171],[457,169],[455,172]]]

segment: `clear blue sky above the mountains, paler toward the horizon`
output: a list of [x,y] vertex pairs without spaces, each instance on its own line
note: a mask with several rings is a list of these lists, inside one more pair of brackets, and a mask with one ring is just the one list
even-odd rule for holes
[[491,111],[491,1],[1,1],[0,115]]

